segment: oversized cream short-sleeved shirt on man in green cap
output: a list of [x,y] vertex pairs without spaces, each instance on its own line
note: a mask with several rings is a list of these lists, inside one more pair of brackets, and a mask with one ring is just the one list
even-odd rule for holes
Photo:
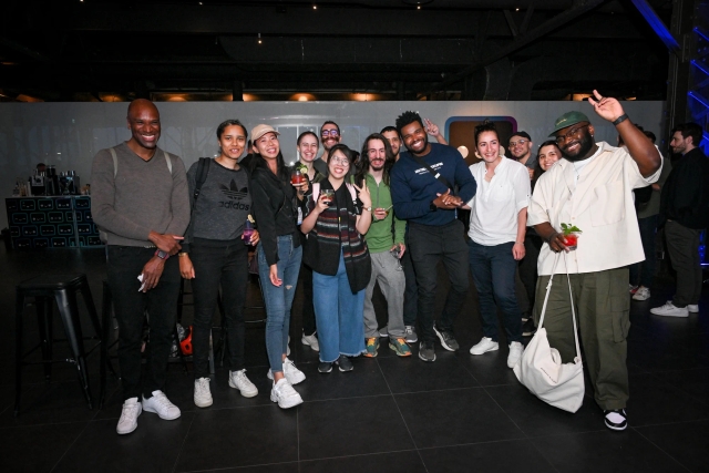
[[[566,255],[568,273],[595,273],[619,268],[645,259],[633,189],[655,183],[662,166],[645,178],[625,148],[596,143],[600,153],[578,176],[574,164],[559,160],[536,183],[530,203],[527,225],[548,222],[561,232],[562,223],[583,233],[578,247]],[[551,275],[556,254],[545,243],[537,268]],[[554,274],[566,271],[561,257]]]

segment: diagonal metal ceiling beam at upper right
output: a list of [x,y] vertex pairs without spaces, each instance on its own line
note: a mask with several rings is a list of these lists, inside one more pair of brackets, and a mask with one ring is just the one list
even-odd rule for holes
[[527,33],[524,34],[520,34],[514,41],[512,41],[510,44],[500,48],[497,50],[495,50],[494,52],[485,55],[482,60],[469,65],[467,68],[463,69],[462,71],[451,75],[449,79],[435,84],[435,86],[432,89],[431,92],[438,92],[441,90],[444,90],[446,86],[454,84],[455,82],[460,81],[461,79],[465,78],[466,75],[470,75],[471,73],[489,65],[492,64],[493,62],[496,62],[503,58],[506,58],[507,55],[512,54],[515,51],[518,51],[520,49],[524,48],[525,45],[530,44],[533,41],[538,40],[540,38],[551,33],[552,31],[556,30],[557,28],[563,27],[564,24],[568,23],[569,21],[573,21],[575,19],[577,19],[578,17],[580,17],[582,14],[593,10],[594,8],[598,7],[599,4],[602,4],[605,0],[576,0],[574,1],[574,6],[555,16],[554,18],[552,18],[551,20],[545,21],[544,23],[540,24],[538,27],[534,28],[533,30],[531,30]]

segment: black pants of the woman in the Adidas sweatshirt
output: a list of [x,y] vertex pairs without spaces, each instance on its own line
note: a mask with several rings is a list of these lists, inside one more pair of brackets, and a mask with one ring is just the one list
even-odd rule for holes
[[209,376],[209,335],[217,307],[219,285],[226,318],[229,370],[244,369],[244,305],[248,282],[248,246],[243,240],[218,241],[195,238],[189,258],[195,268],[192,290],[195,300],[192,347],[195,379]]

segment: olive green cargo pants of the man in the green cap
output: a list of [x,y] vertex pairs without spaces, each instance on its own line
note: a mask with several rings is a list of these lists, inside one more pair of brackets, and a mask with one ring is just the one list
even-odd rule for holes
[[[540,276],[537,281],[534,307],[537,325],[548,281],[549,276]],[[554,275],[553,282],[544,328],[549,345],[567,363],[574,360],[576,348],[566,275]],[[571,284],[594,398],[600,409],[624,409],[630,395],[626,366],[626,338],[630,329],[628,268],[571,275]]]

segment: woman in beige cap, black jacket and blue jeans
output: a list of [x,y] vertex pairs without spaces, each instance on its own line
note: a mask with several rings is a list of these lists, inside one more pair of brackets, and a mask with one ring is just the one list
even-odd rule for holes
[[254,212],[260,232],[256,249],[266,304],[266,350],[274,380],[270,400],[281,409],[302,403],[292,389],[306,379],[287,357],[290,308],[298,284],[302,247],[298,235],[298,204],[302,187],[290,184],[280,153],[279,133],[269,125],[251,131],[254,143]]

